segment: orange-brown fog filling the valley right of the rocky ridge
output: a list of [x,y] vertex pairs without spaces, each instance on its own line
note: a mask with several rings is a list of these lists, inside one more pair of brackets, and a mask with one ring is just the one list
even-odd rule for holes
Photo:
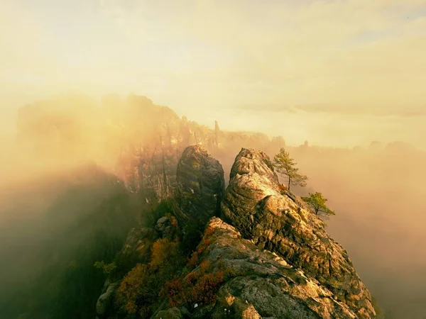
[[322,191],[336,210],[329,233],[348,250],[386,318],[424,318],[426,157],[394,146],[294,154],[310,177],[305,191]]

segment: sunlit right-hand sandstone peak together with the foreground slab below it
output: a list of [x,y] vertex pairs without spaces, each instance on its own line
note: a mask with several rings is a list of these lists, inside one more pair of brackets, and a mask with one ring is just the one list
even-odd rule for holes
[[[153,318],[375,318],[346,251],[263,152],[241,150],[222,200]],[[169,308],[168,308],[169,307]]]

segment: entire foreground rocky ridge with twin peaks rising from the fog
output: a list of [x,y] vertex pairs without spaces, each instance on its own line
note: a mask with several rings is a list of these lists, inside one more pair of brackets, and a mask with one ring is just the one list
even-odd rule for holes
[[[242,149],[226,191],[223,179],[222,165],[203,147],[187,147],[172,216],[129,233],[119,256],[143,264],[155,240],[185,238],[193,230],[187,225],[202,229],[209,220],[186,267],[164,284],[151,318],[376,318],[346,251],[300,198],[280,191],[267,155]],[[107,280],[98,318],[121,318],[106,306],[120,278]]]

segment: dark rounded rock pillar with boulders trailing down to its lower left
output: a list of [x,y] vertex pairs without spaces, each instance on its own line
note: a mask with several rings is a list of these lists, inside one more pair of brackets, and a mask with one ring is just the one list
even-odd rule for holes
[[[174,209],[168,211],[170,215],[160,217],[153,228],[133,228],[129,232],[124,247],[114,260],[120,272],[109,275],[97,301],[98,318],[110,318],[114,313],[115,310],[108,309],[121,279],[136,264],[150,262],[155,240],[168,238],[175,242],[181,239],[183,230],[184,240],[187,238],[187,242],[195,247],[197,241],[191,241],[199,240],[199,237],[194,233],[201,233],[207,221],[219,215],[224,193],[224,171],[204,147],[196,145],[185,149],[176,176],[178,186],[172,198]],[[167,313],[175,313],[175,310],[168,310]]]

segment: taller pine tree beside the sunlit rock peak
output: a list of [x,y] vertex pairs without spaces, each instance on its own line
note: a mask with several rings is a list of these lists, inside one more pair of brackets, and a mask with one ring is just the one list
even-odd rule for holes
[[307,176],[299,174],[297,163],[283,147],[280,148],[275,157],[273,157],[273,166],[278,174],[285,175],[288,178],[288,190],[291,185],[306,186]]

